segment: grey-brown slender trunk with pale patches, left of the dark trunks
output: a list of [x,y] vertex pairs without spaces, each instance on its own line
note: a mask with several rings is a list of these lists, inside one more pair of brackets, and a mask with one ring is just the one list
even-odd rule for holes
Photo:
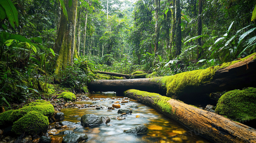
[[155,56],[157,56],[158,51],[158,41],[159,41],[159,31],[160,31],[160,21],[159,21],[159,10],[160,10],[160,0],[155,0],[156,9],[155,9]]

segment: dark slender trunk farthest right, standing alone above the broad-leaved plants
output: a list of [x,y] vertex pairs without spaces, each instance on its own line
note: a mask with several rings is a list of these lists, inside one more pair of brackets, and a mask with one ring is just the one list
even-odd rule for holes
[[[199,0],[199,9],[198,9],[198,27],[197,27],[197,35],[202,35],[202,19],[201,19],[201,14],[202,14],[202,0]],[[197,39],[197,44],[199,46],[202,46],[202,38]],[[197,59],[199,59],[202,56],[202,52],[200,51],[201,47],[197,48]],[[202,49],[202,48],[201,48]],[[203,50],[203,49],[202,49]]]

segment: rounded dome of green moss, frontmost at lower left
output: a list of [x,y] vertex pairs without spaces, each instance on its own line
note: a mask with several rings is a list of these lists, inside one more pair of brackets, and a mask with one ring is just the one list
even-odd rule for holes
[[18,119],[13,123],[11,131],[15,134],[39,134],[47,131],[49,120],[47,116],[44,116],[36,111],[30,111],[25,116]]

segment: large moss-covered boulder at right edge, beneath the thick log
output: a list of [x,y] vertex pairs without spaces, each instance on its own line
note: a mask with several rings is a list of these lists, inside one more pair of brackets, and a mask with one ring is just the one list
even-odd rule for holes
[[226,92],[218,100],[215,112],[238,122],[256,119],[256,88]]

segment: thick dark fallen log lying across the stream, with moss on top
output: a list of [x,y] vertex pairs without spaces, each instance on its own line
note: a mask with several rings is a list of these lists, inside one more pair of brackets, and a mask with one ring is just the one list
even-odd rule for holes
[[174,99],[196,94],[256,87],[256,53],[244,59],[223,63],[207,69],[183,72],[173,76],[130,80],[95,80],[89,91],[116,91],[138,89],[159,93]]

